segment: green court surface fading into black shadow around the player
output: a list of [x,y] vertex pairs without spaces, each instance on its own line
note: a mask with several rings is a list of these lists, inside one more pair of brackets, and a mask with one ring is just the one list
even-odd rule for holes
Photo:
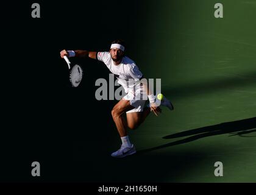
[[[33,2],[15,3],[5,28],[14,73],[4,74],[0,180],[255,182],[256,2],[219,2],[222,19],[212,0],[38,1],[40,19],[30,16]],[[85,77],[71,89],[59,57],[62,49],[106,51],[116,38],[145,77],[162,79],[175,107],[130,131],[138,153],[123,159],[110,157],[121,144],[116,101],[94,98],[108,69],[72,59]],[[32,161],[41,177],[30,175]],[[216,161],[224,177],[214,176]]]

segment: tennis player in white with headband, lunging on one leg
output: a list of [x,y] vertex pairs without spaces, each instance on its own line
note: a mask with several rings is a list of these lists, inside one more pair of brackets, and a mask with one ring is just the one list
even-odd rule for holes
[[[160,104],[157,104],[154,94],[151,93],[151,90],[145,83],[141,88],[140,81],[143,79],[143,74],[135,62],[124,55],[124,51],[124,41],[115,40],[112,42],[109,52],[85,50],[63,50],[60,52],[62,58],[65,55],[68,57],[90,57],[91,59],[97,59],[105,63],[111,73],[117,76],[118,83],[123,86],[126,96],[112,109],[112,117],[122,141],[121,148],[112,153],[112,157],[118,158],[126,157],[136,152],[135,146],[130,142],[129,136],[127,135],[127,127],[129,129],[136,129],[151,111],[158,116],[161,113],[160,105],[166,106],[170,110],[174,109],[171,102],[165,97]],[[141,98],[144,97],[144,94],[146,94],[146,99]],[[150,103],[144,107],[147,99],[149,99]],[[124,118],[125,113],[126,119]]]

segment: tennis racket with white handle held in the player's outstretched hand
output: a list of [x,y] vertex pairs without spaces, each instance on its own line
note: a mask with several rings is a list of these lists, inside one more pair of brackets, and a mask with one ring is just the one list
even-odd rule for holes
[[73,65],[73,63],[71,63],[69,61],[69,59],[68,59],[68,57],[66,57],[66,55],[63,57],[63,59],[68,64],[69,81],[71,83],[71,86],[78,87],[83,78],[83,69],[79,65]]

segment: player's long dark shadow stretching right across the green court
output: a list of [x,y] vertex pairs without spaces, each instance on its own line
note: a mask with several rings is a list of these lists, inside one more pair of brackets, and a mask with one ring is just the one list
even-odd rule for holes
[[[188,143],[190,141],[195,141],[200,138],[205,138],[213,135],[221,135],[226,133],[230,133],[229,137],[234,135],[239,135],[241,137],[250,137],[245,135],[252,132],[256,132],[256,117],[243,119],[240,121],[223,122],[221,124],[216,124],[214,126],[201,127],[197,129],[187,130],[185,132],[167,135],[163,138],[172,139],[172,138],[181,138],[181,137],[187,137],[187,136],[190,136],[190,137],[187,137],[178,141],[173,141],[171,143],[163,144],[161,146],[141,150],[141,151],[138,151],[138,153],[150,152],[157,149],[162,149],[164,147],[175,146],[177,144],[183,144],[183,143]],[[252,136],[252,137],[255,137],[255,136]]]

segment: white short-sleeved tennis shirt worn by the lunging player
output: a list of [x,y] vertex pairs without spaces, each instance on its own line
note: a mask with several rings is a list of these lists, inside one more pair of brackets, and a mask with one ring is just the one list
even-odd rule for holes
[[110,52],[98,52],[97,57],[99,61],[105,63],[111,73],[115,74],[118,83],[123,86],[126,93],[135,92],[140,88],[140,79],[143,74],[129,57],[123,57],[119,65],[114,64]]

